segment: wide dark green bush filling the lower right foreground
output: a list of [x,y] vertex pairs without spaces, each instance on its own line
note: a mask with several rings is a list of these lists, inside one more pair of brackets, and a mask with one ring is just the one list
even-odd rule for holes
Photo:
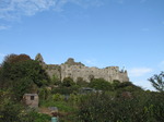
[[133,97],[93,94],[79,105],[81,122],[163,122],[164,95],[141,93]]

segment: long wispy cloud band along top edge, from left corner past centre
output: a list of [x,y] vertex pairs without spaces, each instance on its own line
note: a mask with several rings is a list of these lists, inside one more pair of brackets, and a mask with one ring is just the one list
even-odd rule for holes
[[37,12],[55,10],[63,11],[67,3],[80,7],[98,7],[102,0],[0,0],[0,19],[15,20],[22,15],[34,15]]

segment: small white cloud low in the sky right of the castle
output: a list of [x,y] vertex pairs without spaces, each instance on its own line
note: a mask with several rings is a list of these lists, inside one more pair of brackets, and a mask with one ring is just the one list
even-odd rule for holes
[[153,70],[150,68],[134,68],[129,70],[129,76],[143,76],[148,73],[151,73]]

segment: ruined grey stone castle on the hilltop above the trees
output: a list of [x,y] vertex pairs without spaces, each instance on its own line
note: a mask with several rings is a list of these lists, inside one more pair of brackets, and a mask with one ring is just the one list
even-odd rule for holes
[[35,60],[39,61],[50,77],[57,76],[60,81],[65,77],[71,77],[74,82],[82,77],[84,81],[90,82],[91,77],[104,78],[108,82],[119,81],[129,82],[127,71],[119,71],[118,66],[107,66],[98,69],[95,66],[85,66],[81,62],[75,62],[74,59],[69,58],[62,64],[46,64],[43,57],[38,53]]

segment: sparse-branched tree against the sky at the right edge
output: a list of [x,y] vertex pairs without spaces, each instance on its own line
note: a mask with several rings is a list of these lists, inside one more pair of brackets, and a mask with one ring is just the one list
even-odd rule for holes
[[161,72],[159,75],[154,74],[149,81],[156,90],[164,91],[164,72]]

